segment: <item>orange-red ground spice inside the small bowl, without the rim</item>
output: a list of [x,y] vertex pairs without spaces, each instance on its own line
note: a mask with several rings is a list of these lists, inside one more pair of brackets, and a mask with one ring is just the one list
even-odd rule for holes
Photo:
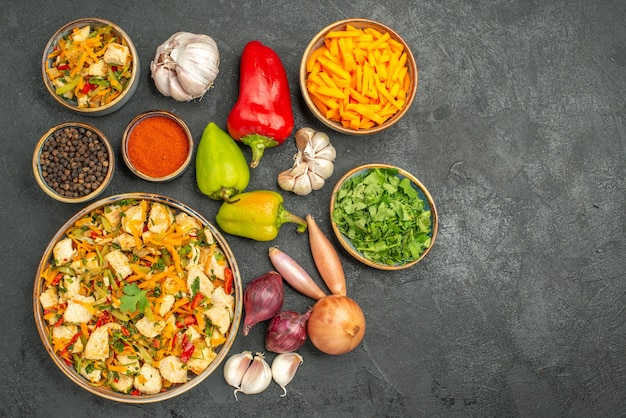
[[128,158],[133,166],[151,177],[164,177],[178,170],[189,153],[187,134],[167,116],[139,121],[128,137]]

